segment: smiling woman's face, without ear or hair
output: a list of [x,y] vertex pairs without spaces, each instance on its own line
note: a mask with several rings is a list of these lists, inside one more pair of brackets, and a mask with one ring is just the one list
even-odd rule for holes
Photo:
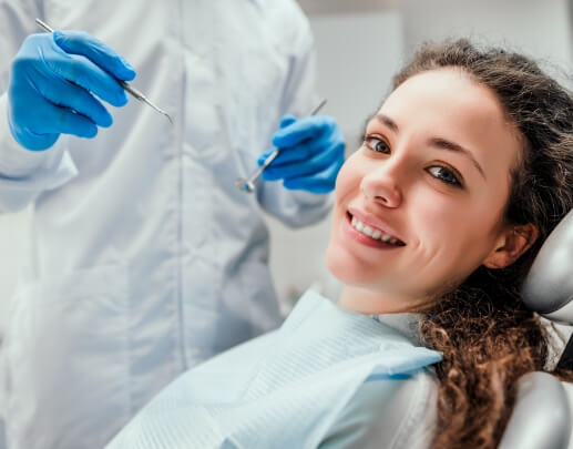
[[520,142],[495,95],[459,69],[396,89],[336,184],[327,264],[354,308],[417,307],[487,263]]

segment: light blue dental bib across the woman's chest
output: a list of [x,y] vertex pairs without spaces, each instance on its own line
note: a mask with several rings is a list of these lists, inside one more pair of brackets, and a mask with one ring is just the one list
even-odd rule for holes
[[309,290],[278,330],[183,374],[108,448],[316,448],[365,381],[440,359]]

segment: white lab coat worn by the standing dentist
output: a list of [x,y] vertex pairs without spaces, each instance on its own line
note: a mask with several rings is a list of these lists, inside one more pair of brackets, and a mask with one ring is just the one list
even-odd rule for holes
[[[8,70],[35,17],[116,49],[175,123],[132,99],[94,140],[19,147]],[[329,204],[234,182],[316,103],[313,40],[293,0],[1,0],[0,29],[0,210],[33,203],[3,345],[9,448],[101,448],[177,374],[279,324],[259,206],[299,226]]]

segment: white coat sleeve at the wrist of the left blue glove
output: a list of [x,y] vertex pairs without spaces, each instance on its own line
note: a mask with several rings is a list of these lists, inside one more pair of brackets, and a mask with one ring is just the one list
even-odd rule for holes
[[34,19],[43,18],[42,11],[39,0],[0,0],[0,212],[22,210],[76,174],[65,136],[47,151],[32,152],[14,141],[8,124],[10,65],[25,37],[39,31]]

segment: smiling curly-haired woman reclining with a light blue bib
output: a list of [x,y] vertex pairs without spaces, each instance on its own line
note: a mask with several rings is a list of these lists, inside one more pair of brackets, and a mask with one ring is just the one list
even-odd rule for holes
[[571,92],[501,49],[422,48],[337,178],[338,306],[308,293],[111,447],[498,447],[516,380],[548,363],[520,286],[572,207]]

